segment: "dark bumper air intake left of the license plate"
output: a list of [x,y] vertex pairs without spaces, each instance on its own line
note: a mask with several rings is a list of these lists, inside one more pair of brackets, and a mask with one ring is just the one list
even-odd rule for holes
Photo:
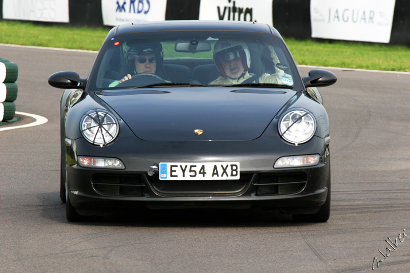
[[145,186],[137,175],[95,174],[91,183],[97,193],[113,196],[141,196]]

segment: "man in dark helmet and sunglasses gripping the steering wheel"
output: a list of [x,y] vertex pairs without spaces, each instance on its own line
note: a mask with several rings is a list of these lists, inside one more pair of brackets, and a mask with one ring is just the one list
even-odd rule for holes
[[[124,50],[124,58],[127,64],[137,73],[152,73],[155,74],[157,68],[162,65],[163,49],[159,42],[142,43],[137,45],[126,45]],[[120,80],[113,81],[109,87],[115,87],[119,83],[131,79],[131,74],[127,74]]]

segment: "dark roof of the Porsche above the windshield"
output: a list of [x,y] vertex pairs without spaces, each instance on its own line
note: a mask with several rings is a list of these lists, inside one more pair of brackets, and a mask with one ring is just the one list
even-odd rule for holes
[[169,30],[235,30],[265,32],[280,36],[268,24],[256,22],[222,21],[222,20],[169,20],[158,22],[128,23],[114,28],[112,35],[140,32],[140,31],[169,31]]

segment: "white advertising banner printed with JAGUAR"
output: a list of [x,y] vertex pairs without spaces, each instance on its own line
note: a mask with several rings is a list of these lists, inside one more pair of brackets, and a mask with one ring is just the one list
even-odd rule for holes
[[389,43],[395,0],[311,0],[312,37]]

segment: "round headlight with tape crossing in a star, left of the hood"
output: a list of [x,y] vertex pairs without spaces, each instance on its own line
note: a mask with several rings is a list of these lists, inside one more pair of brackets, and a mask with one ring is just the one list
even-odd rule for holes
[[81,134],[90,143],[105,145],[118,135],[118,121],[105,110],[92,110],[80,122]]

